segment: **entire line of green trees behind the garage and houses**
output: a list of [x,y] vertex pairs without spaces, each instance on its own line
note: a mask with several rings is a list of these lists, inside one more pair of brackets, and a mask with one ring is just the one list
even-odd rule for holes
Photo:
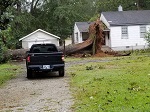
[[72,35],[77,21],[94,21],[100,12],[150,9],[150,0],[0,0],[0,44],[20,48],[18,40],[43,29],[61,39]]

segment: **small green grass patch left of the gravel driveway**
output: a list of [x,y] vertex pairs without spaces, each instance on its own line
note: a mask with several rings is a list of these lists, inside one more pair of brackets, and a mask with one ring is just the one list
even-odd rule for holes
[[12,64],[0,64],[0,86],[6,83],[6,81],[14,78],[20,70],[20,67]]

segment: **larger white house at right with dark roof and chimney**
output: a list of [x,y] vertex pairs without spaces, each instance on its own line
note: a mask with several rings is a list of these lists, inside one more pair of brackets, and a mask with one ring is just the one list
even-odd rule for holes
[[100,20],[107,26],[105,45],[115,51],[147,47],[144,39],[150,28],[150,10],[102,12]]

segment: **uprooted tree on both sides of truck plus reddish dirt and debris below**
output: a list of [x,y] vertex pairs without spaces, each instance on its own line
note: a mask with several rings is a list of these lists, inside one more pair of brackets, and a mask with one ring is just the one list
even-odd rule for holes
[[[65,55],[72,55],[75,57],[89,57],[91,55],[99,56],[99,57],[106,57],[108,55],[111,56],[129,56],[131,52],[129,53],[118,53],[113,50],[111,51],[102,51],[102,42],[104,40],[104,34],[103,34],[103,23],[98,19],[94,23],[92,23],[89,26],[89,37],[86,41],[78,44],[68,45],[58,47],[59,51],[64,52]],[[90,52],[86,53],[85,50],[90,50]],[[26,51],[24,49],[18,49],[18,50],[10,50],[9,53],[12,55],[12,59],[23,59],[26,57]],[[81,51],[83,51],[81,53]]]

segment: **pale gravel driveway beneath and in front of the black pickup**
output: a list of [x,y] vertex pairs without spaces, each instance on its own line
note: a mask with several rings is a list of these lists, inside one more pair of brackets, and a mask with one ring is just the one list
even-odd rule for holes
[[69,91],[69,76],[57,73],[26,78],[25,63],[19,63],[23,73],[0,88],[0,112],[72,112],[73,99]]

